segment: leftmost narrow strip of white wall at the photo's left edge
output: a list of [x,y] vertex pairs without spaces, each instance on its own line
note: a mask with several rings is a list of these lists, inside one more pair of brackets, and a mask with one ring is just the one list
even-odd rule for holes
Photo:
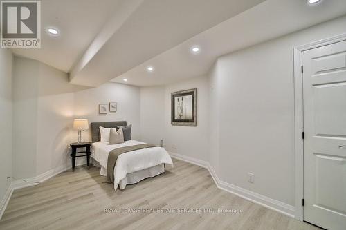
[[[0,49],[0,202],[12,175],[12,52]],[[9,180],[10,182],[10,180]]]

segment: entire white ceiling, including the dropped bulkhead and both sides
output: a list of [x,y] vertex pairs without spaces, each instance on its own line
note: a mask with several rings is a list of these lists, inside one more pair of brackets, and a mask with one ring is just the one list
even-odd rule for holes
[[[217,57],[346,14],[345,0],[43,0],[42,48],[15,49],[72,84],[169,84]],[[60,35],[52,37],[49,26]],[[192,55],[193,45],[201,47]],[[154,66],[152,73],[147,66]],[[123,79],[127,78],[128,82]]]

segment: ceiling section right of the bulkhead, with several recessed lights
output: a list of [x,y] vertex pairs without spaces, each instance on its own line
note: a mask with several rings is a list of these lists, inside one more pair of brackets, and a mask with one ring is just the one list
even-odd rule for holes
[[[144,61],[111,82],[155,86],[206,75],[217,57],[345,14],[345,0],[325,0],[316,6],[308,6],[305,0],[267,0]],[[190,52],[194,45],[201,48],[199,55]],[[154,72],[148,73],[147,66],[154,66]]]

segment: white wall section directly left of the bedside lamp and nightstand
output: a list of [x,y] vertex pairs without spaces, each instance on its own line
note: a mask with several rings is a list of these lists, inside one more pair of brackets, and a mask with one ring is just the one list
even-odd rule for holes
[[37,75],[36,175],[71,165],[69,144],[73,124],[73,97],[78,86],[66,73],[39,63]]

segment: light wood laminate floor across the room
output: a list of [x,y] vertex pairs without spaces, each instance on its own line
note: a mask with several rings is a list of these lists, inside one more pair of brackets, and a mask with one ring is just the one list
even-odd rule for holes
[[[217,189],[206,169],[174,160],[174,169],[114,191],[95,167],[80,167],[15,191],[0,229],[318,229]],[[105,209],[139,213],[106,213]],[[242,213],[157,213],[189,208]],[[127,209],[127,210],[126,210]],[[150,212],[151,211],[151,212]]]

